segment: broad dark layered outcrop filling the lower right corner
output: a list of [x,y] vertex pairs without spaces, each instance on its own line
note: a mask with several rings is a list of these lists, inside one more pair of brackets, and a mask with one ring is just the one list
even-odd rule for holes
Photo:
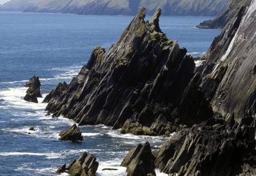
[[240,123],[208,119],[164,143],[155,166],[178,175],[255,175],[254,132],[252,117],[242,118]]

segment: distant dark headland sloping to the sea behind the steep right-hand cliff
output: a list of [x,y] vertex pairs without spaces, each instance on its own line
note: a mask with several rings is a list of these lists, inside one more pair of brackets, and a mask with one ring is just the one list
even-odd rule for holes
[[226,24],[228,24],[228,22],[230,22],[232,18],[237,16],[239,11],[244,11],[245,7],[247,7],[249,3],[250,0],[232,0],[229,7],[224,12],[222,12],[221,15],[217,16],[213,20],[206,20],[196,27],[206,29],[222,29],[226,26]]

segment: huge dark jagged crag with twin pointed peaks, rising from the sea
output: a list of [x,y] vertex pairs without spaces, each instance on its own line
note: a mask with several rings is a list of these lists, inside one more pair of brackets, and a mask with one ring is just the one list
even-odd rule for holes
[[176,118],[195,63],[160,30],[160,13],[159,8],[150,22],[144,22],[142,8],[117,44],[107,52],[96,47],[88,64],[46,110],[79,125],[101,123],[146,135],[170,134],[201,121],[195,114],[201,118],[208,109]]

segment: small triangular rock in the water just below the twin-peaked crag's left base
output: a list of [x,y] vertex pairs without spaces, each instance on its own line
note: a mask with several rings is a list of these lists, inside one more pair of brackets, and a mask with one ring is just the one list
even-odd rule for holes
[[68,130],[61,131],[59,133],[60,140],[71,140],[71,141],[81,141],[82,140],[82,131],[79,127],[74,124]]

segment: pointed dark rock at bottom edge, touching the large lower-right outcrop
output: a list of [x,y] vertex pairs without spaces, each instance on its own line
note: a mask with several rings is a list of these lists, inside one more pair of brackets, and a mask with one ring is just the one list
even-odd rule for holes
[[148,142],[139,144],[126,155],[121,163],[125,166],[127,175],[156,175],[154,170],[155,156]]

